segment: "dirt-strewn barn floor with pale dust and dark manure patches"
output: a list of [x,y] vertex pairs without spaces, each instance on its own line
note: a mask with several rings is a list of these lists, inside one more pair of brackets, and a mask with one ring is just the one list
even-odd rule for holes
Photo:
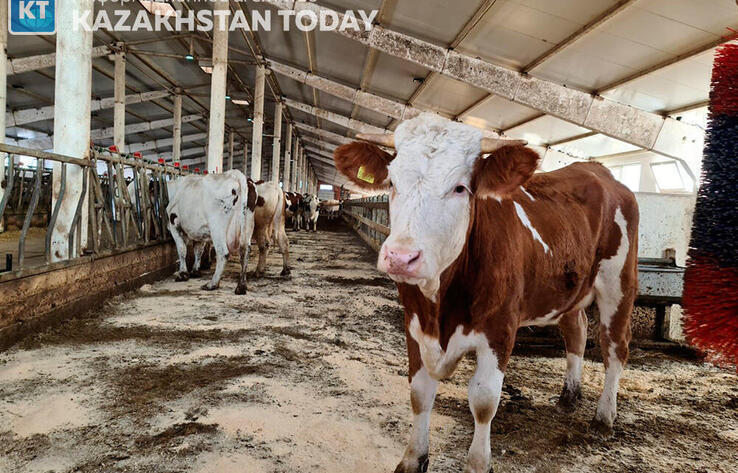
[[[293,274],[233,294],[169,279],[0,353],[0,472],[391,472],[410,425],[402,309],[353,234],[290,233]],[[254,262],[252,261],[252,267]],[[464,360],[442,383],[430,471],[460,472]],[[492,423],[496,472],[738,471],[738,378],[634,350],[614,436],[589,432],[603,381],[554,407],[557,357],[514,356]]]

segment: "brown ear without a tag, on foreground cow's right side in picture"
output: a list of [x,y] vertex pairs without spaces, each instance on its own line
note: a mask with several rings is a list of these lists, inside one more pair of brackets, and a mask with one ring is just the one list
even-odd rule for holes
[[474,163],[472,188],[478,198],[507,198],[525,184],[538,167],[538,153],[520,145],[503,146]]

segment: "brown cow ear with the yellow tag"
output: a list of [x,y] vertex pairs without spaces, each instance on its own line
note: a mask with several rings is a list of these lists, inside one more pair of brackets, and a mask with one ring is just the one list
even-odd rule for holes
[[371,190],[389,187],[387,166],[393,156],[379,146],[356,141],[336,149],[333,159],[336,169],[359,187]]

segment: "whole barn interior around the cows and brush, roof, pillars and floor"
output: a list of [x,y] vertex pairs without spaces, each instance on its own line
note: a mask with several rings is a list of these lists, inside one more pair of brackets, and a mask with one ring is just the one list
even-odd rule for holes
[[[127,31],[100,20],[121,10]],[[217,11],[250,28],[206,27]],[[411,413],[403,309],[375,268],[389,202],[333,153],[420,112],[526,140],[540,172],[600,162],[639,204],[614,434],[588,430],[595,314],[573,414],[555,408],[558,330],[522,328],[494,470],[738,469],[735,367],[704,363],[680,305],[736,2],[57,0],[55,14],[54,34],[15,34],[0,5],[0,471],[393,471]],[[177,15],[194,27],[154,27]],[[351,16],[362,31],[342,28]],[[214,292],[171,276],[167,182],[230,169],[323,202],[317,232],[288,231],[292,275],[273,251],[245,296],[237,258]],[[430,471],[463,469],[473,365],[439,388]]]

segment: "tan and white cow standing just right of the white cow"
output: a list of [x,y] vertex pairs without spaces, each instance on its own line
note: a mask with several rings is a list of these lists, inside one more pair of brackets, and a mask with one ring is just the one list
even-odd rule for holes
[[276,182],[256,183],[259,198],[264,199],[264,205],[254,212],[256,243],[259,246],[259,262],[256,266],[255,277],[262,277],[266,269],[266,260],[269,247],[274,240],[282,253],[281,276],[290,274],[290,243],[285,233],[285,194]]

